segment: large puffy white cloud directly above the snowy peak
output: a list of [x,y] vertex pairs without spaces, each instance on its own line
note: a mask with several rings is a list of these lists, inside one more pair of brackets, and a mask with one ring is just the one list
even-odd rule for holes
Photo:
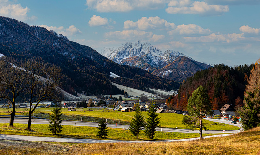
[[165,29],[165,28],[175,28],[174,23],[169,23],[160,17],[142,17],[137,22],[127,20],[124,22],[124,28],[138,28],[139,30],[148,30],[148,29]]

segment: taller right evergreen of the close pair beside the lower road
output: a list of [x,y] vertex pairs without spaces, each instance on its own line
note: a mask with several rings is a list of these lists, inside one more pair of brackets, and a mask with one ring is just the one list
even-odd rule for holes
[[153,139],[157,127],[160,127],[160,118],[158,117],[159,113],[156,113],[157,109],[155,107],[154,99],[152,104],[149,107],[149,112],[147,113],[148,117],[146,118],[146,127],[145,134],[149,139]]

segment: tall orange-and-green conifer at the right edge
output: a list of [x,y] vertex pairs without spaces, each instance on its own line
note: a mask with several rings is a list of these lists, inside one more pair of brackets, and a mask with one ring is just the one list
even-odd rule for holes
[[240,115],[245,130],[260,126],[260,59],[251,70]]

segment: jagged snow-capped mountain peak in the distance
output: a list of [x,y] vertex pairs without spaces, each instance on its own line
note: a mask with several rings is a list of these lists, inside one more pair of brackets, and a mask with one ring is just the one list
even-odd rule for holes
[[[140,63],[147,63],[159,68],[167,63],[173,62],[179,56],[186,56],[173,50],[162,52],[149,42],[142,40],[138,40],[135,43],[126,42],[119,48],[104,48],[100,53],[116,63],[133,65],[133,59],[131,59],[131,62],[127,62],[127,60],[131,57],[136,57],[137,62],[135,63],[138,65],[143,66],[144,64]],[[186,57],[190,58],[189,56]]]

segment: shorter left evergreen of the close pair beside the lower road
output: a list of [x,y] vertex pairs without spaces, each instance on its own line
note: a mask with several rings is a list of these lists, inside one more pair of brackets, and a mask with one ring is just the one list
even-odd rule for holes
[[131,119],[129,130],[134,136],[137,136],[138,139],[139,133],[141,130],[144,129],[144,127],[145,127],[144,116],[140,111],[140,106],[137,106],[136,114]]

